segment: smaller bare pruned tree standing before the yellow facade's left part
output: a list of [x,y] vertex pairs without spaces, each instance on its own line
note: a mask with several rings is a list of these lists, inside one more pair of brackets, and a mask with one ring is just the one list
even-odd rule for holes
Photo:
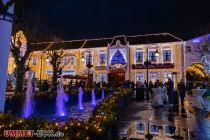
[[67,62],[63,61],[66,54],[62,49],[47,51],[47,55],[50,57],[49,62],[53,68],[52,85],[55,85],[59,74],[62,72],[62,69],[68,64],[68,60]]

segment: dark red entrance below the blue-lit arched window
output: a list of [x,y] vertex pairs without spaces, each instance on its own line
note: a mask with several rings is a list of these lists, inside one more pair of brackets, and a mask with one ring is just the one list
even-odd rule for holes
[[125,72],[112,72],[108,74],[108,82],[115,87],[121,86],[125,82]]

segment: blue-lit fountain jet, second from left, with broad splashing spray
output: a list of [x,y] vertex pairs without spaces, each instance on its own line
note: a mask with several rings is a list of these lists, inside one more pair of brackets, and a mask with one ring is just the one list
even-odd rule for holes
[[65,115],[65,102],[68,101],[68,95],[65,94],[63,89],[63,76],[61,76],[60,83],[57,87],[57,97],[56,97],[56,109],[58,116],[64,116]]

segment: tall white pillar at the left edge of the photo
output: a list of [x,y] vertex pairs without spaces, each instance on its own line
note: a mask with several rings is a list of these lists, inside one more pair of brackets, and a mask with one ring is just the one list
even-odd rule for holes
[[[9,0],[3,0],[3,3],[5,4],[8,1]],[[13,13],[13,9],[14,6],[11,6],[8,12]],[[0,17],[2,17],[2,15],[0,15]],[[5,105],[5,91],[11,32],[12,23],[9,21],[0,20],[0,112],[4,112]]]

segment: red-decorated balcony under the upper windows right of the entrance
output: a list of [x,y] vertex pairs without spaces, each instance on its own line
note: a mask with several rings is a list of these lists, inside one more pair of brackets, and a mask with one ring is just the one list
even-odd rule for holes
[[[147,67],[144,64],[133,64],[133,69],[146,69]],[[174,63],[159,63],[159,64],[151,64],[149,65],[149,69],[168,69],[174,68]]]

